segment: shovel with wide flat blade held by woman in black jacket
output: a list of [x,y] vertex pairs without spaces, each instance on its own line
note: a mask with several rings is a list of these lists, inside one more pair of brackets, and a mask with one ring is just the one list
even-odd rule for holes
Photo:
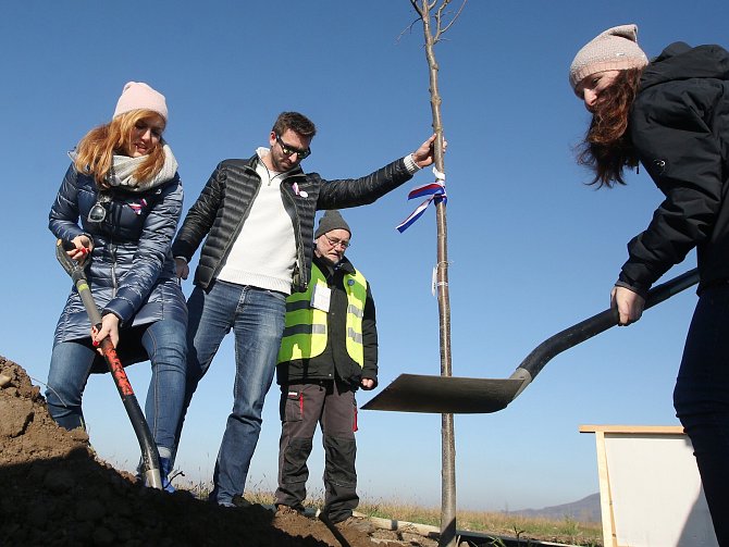
[[[645,309],[697,282],[699,270],[693,269],[655,286],[647,295]],[[438,414],[498,412],[523,391],[553,357],[617,324],[618,311],[614,308],[585,319],[536,346],[517,370],[504,380],[400,374],[362,409]]]

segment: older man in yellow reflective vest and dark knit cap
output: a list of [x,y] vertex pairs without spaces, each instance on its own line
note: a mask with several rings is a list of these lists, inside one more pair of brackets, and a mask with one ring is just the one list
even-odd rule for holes
[[324,445],[322,513],[338,526],[358,529],[357,402],[359,387],[378,384],[378,330],[370,285],[344,256],[351,229],[338,211],[326,211],[314,233],[311,282],[286,300],[279,351],[281,386],[279,515],[304,512],[307,459],[317,423]]

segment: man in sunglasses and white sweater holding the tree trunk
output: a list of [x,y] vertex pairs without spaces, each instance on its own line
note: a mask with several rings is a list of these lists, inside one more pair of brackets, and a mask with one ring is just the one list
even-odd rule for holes
[[218,164],[172,245],[177,275],[187,278],[187,264],[205,239],[187,301],[185,409],[223,337],[235,333],[234,405],[210,493],[219,505],[247,504],[243,492],[273,381],[286,297],[306,290],[311,276],[316,211],[371,203],[433,163],[435,136],[364,177],[325,181],[299,166],[316,132],[298,112],[279,115],[270,148]]

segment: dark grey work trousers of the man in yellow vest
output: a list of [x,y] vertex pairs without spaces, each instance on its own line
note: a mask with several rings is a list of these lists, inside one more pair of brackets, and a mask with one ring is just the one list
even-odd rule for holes
[[359,504],[355,460],[357,402],[346,384],[322,381],[281,386],[281,442],[275,504],[304,510],[307,460],[317,424],[324,445],[324,508],[329,519],[342,522]]

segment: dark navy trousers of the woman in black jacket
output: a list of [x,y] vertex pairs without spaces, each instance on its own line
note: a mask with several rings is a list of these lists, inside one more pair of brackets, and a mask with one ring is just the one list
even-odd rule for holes
[[729,285],[704,290],[674,390],[719,545],[729,546]]

